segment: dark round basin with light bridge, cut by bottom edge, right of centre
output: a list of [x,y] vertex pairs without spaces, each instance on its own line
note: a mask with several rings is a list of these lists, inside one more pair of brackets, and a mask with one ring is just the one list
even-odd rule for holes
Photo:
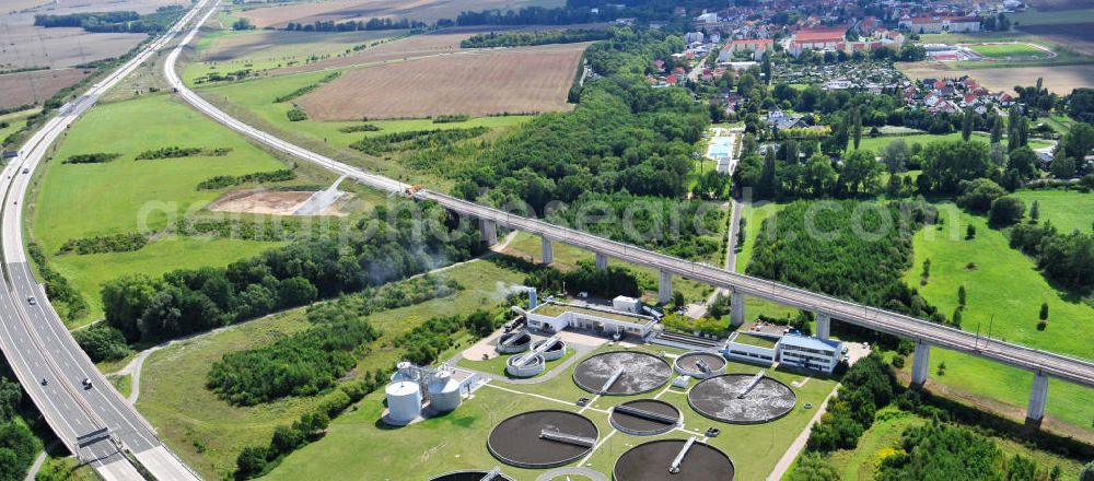
[[695,442],[679,465],[670,472],[673,460],[684,449],[685,439],[660,439],[640,444],[624,453],[612,471],[615,481],[729,481],[734,477],[733,461],[721,449]]

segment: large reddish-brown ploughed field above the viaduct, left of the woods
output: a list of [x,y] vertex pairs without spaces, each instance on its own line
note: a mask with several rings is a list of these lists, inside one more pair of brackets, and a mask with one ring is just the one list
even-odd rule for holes
[[587,46],[468,52],[360,69],[298,103],[317,120],[562,110]]

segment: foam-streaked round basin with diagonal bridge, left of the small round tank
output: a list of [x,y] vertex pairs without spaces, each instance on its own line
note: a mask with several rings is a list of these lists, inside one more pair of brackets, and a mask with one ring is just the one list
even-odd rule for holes
[[[604,385],[620,373],[606,390]],[[665,360],[638,351],[612,351],[591,356],[573,371],[573,382],[582,389],[604,396],[633,396],[652,391],[672,377]],[[603,390],[603,391],[602,391]]]

